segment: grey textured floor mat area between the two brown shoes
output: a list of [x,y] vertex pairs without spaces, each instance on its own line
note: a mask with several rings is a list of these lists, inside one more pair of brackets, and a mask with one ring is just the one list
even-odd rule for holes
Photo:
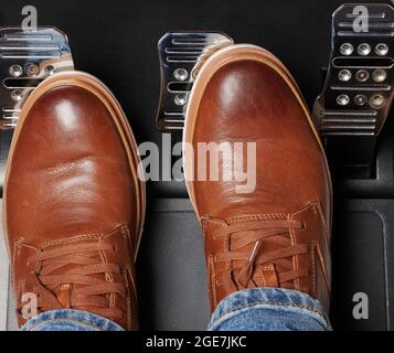
[[199,222],[189,200],[157,200],[138,256],[142,330],[206,330],[206,267]]

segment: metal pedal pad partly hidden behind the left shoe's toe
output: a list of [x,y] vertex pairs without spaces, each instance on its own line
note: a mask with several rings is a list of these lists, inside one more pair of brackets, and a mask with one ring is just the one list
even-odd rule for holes
[[46,77],[74,69],[67,36],[55,28],[0,28],[0,188],[12,132],[29,94]]

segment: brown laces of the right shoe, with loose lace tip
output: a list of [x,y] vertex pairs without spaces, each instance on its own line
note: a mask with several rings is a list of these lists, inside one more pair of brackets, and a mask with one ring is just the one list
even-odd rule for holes
[[[277,274],[279,287],[289,287],[289,282],[308,276],[307,268],[294,269],[292,257],[308,253],[306,244],[292,244],[290,228],[301,229],[304,223],[294,220],[264,220],[237,223],[215,231],[215,238],[226,237],[226,252],[215,256],[216,263],[237,261],[225,270],[231,278],[247,288],[254,275],[255,266],[277,265],[281,271]],[[276,245],[275,250],[265,250],[264,244]],[[252,250],[249,250],[252,245]],[[242,250],[247,247],[248,250]],[[239,263],[241,261],[241,263]],[[225,278],[228,278],[226,276]],[[256,287],[258,287],[256,285]],[[307,291],[307,288],[301,290]]]

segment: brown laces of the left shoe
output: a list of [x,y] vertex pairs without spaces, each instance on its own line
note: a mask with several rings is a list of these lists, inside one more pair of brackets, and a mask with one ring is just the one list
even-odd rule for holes
[[[120,267],[106,263],[104,252],[116,252],[105,243],[72,244],[43,249],[29,258],[36,269],[26,286],[36,288],[39,312],[58,308],[90,308],[97,314],[121,319],[123,312],[109,307],[108,295],[126,297]],[[66,293],[66,303],[54,290]]]

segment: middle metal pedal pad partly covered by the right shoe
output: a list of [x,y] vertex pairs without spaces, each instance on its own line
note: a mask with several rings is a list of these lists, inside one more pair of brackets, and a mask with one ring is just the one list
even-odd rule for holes
[[223,33],[171,32],[159,41],[161,71],[157,124],[162,131],[183,129],[184,109],[199,68],[219,49],[234,44]]

